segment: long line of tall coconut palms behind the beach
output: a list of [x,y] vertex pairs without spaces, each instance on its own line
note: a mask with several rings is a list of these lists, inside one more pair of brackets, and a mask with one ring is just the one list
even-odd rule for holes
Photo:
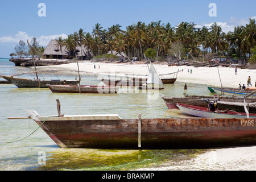
[[[181,48],[176,48],[179,45]],[[197,28],[193,22],[181,22],[176,27],[170,23],[138,22],[121,30],[119,24],[104,29],[100,23],[93,26],[92,33],[84,32],[82,28],[68,35],[67,39],[56,39],[56,46],[61,50],[65,46],[68,52],[86,46],[94,56],[104,55],[109,51],[124,52],[128,57],[143,59],[147,49],[156,52],[156,60],[163,60],[166,55],[176,57],[202,57],[207,53],[214,56],[228,56],[236,59],[251,57],[252,49],[256,46],[256,23],[250,18],[246,26],[234,27],[227,33],[217,23],[209,28]],[[174,51],[176,50],[176,53]],[[90,59],[90,57],[85,57]]]

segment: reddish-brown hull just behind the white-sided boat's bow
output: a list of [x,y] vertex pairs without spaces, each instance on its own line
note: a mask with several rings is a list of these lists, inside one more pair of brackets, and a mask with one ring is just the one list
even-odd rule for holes
[[164,102],[166,103],[168,109],[179,109],[177,107],[177,103],[181,104],[191,104],[196,106],[208,106],[208,102],[201,99],[201,98],[195,98],[195,97],[166,97],[162,96]]

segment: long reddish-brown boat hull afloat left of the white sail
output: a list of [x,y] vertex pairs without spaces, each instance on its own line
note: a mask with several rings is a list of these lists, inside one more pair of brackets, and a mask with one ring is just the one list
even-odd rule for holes
[[117,93],[117,86],[92,86],[81,85],[80,90],[78,85],[48,85],[48,88],[53,93]]

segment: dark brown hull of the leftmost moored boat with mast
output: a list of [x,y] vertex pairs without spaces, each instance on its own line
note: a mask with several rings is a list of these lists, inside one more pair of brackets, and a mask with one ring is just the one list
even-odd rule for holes
[[[12,84],[18,86],[18,88],[47,88],[47,84],[52,85],[64,85],[64,80],[31,80],[27,78],[16,78],[3,76],[5,80],[11,82]],[[77,80],[66,80],[66,84],[77,85],[79,81]]]

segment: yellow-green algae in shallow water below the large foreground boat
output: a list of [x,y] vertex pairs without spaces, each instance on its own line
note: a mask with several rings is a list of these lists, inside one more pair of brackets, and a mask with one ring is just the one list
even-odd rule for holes
[[36,170],[111,171],[157,167],[167,162],[189,160],[201,150],[100,150],[60,148],[53,152],[46,165]]

